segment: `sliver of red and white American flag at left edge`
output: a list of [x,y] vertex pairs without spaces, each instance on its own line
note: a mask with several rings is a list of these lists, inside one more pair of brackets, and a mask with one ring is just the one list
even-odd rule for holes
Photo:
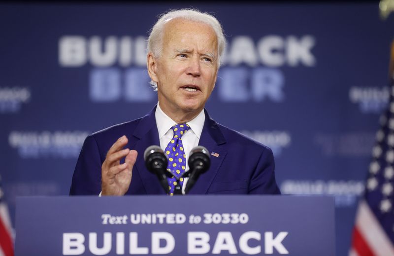
[[3,200],[3,191],[0,186],[0,256],[13,255],[14,249],[11,238],[11,222],[8,215],[7,205]]

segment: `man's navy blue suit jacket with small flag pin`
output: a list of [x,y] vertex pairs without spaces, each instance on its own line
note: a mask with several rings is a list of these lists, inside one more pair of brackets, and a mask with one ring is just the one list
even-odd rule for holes
[[[143,152],[160,145],[155,118],[156,107],[142,118],[118,124],[89,135],[79,155],[70,195],[99,195],[101,165],[108,149],[126,135],[126,147],[138,152],[126,194],[165,194],[157,177],[145,167]],[[211,166],[189,194],[280,194],[275,181],[274,158],[269,147],[216,123],[205,111],[199,145],[211,155]]]

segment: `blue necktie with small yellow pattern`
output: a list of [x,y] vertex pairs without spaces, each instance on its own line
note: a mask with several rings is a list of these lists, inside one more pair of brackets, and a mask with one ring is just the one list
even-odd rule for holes
[[[167,171],[171,172],[173,175],[171,178],[167,178],[170,195],[174,194],[177,180],[182,176],[186,169],[186,155],[183,150],[181,138],[189,129],[189,125],[182,123],[171,127],[171,130],[174,132],[174,136],[165,148],[165,154],[168,158]],[[180,178],[179,182],[179,185],[182,187],[183,178]]]

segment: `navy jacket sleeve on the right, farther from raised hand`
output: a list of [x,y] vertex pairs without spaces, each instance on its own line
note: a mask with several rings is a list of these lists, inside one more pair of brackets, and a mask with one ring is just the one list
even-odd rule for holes
[[265,147],[260,155],[248,194],[280,194],[275,180],[274,155],[269,147]]

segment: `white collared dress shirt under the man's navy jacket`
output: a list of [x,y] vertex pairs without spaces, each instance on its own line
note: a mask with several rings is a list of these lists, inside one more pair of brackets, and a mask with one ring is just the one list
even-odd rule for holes
[[[171,127],[174,126],[176,122],[163,112],[163,110],[160,108],[159,103],[157,104],[155,118],[157,130],[159,132],[160,147],[163,149],[163,151],[165,151],[165,148],[174,136],[174,132],[171,130]],[[201,112],[194,119],[187,122],[187,124],[190,126],[190,129],[182,136],[182,144],[186,154],[186,171],[189,170],[188,160],[190,150],[192,150],[193,147],[198,146],[202,128],[204,127],[204,122],[204,110],[201,110]],[[187,180],[188,179],[186,178],[183,181],[183,193],[185,193]]]

